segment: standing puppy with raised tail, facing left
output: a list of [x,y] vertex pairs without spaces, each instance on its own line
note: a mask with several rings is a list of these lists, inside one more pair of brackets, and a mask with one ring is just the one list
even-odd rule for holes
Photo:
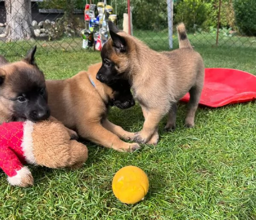
[[101,50],[102,66],[96,78],[109,83],[129,80],[143,114],[144,125],[132,138],[138,143],[157,144],[158,125],[168,114],[165,129],[176,127],[177,102],[190,94],[185,126],[194,126],[194,117],[204,82],[204,64],[187,38],[185,26],[177,26],[179,49],[158,53],[137,38],[121,32],[109,22],[111,38]]

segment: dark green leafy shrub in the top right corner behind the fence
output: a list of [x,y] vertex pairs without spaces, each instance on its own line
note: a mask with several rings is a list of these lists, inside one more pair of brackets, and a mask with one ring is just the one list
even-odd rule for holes
[[256,36],[255,0],[233,0],[233,7],[238,31],[244,35]]

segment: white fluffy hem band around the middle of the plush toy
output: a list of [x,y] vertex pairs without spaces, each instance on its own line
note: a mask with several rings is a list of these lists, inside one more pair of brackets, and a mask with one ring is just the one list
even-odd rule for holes
[[33,138],[32,132],[34,129],[34,123],[32,121],[24,122],[24,131],[23,131],[23,140],[21,143],[22,150],[24,152],[24,156],[26,161],[29,164],[35,164],[35,157],[33,154]]

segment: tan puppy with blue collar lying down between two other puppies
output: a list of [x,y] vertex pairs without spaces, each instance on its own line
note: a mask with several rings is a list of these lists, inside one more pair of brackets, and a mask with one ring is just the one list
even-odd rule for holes
[[109,86],[96,80],[101,63],[64,80],[47,80],[51,115],[82,138],[118,151],[133,151],[140,146],[126,143],[134,133],[107,119],[110,105],[127,109],[135,105],[127,80],[112,80]]

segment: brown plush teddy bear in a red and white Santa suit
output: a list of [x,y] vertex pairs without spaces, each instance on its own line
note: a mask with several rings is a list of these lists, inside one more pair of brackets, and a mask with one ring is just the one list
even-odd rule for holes
[[28,187],[34,179],[22,164],[49,168],[79,168],[88,158],[87,147],[70,140],[58,122],[9,122],[0,125],[0,168],[11,185]]

